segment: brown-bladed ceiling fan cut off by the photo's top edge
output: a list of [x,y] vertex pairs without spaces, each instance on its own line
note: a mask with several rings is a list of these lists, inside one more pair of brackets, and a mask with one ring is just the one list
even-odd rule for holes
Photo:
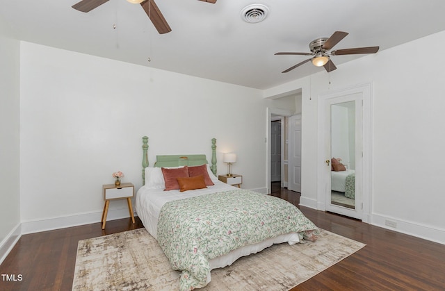
[[[167,21],[163,17],[161,10],[159,10],[154,0],[127,0],[130,3],[139,4],[147,13],[148,18],[152,21],[156,30],[160,33],[169,33],[172,28],[168,25]],[[209,3],[216,3],[216,0],[200,0]],[[108,0],[82,0],[72,6],[72,8],[79,10],[81,12],[90,12],[91,10],[101,6],[103,3],[108,2]]]

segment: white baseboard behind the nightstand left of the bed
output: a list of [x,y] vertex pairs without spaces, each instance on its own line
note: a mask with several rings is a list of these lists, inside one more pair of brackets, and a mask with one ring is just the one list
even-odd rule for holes
[[[136,214],[134,214],[136,216]],[[130,217],[128,208],[108,210],[106,221]],[[22,222],[22,234],[39,233],[40,231],[52,231],[53,229],[79,226],[100,222],[102,212],[79,213],[76,215],[51,217],[29,222]]]

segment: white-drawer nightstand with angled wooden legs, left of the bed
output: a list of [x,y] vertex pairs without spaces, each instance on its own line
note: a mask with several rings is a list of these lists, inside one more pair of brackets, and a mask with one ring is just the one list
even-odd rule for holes
[[108,214],[108,206],[110,200],[127,199],[128,210],[130,212],[131,221],[134,222],[133,206],[131,206],[131,197],[134,196],[134,185],[132,183],[122,183],[118,186],[114,184],[102,185],[102,192],[104,193],[104,212],[102,212],[102,229],[105,229],[106,215]]

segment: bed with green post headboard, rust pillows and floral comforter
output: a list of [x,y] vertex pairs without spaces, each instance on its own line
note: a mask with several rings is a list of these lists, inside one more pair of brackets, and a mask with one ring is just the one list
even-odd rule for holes
[[[211,165],[205,155],[174,155],[156,156],[154,167],[148,167],[147,140],[143,138],[144,185],[136,195],[136,212],[172,268],[181,271],[180,290],[202,288],[211,281],[211,269],[272,244],[316,240],[318,228],[291,203],[218,181],[215,139]],[[179,189],[164,190],[172,182],[165,173],[197,169],[204,174],[178,176]],[[194,180],[200,187],[183,187]]]

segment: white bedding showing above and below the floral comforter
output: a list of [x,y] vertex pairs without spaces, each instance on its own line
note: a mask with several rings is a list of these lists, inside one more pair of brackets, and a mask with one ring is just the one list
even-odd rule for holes
[[[213,180],[213,179],[212,179]],[[238,189],[231,185],[227,185],[218,180],[213,180],[215,185],[208,186],[208,188],[191,190],[186,192],[179,192],[179,190],[164,191],[161,189],[146,189],[145,186],[140,188],[136,194],[136,212],[140,220],[143,222],[148,233],[154,238],[157,238],[157,225],[158,217],[161,212],[162,206],[168,201],[173,201],[177,199],[184,199],[186,197],[195,197],[209,193],[223,192],[226,190]],[[258,244],[251,244],[241,249],[236,249],[227,253],[225,256],[220,256],[209,261],[211,269],[218,267],[225,267],[227,265],[232,265],[235,260],[241,258],[242,256],[248,256],[250,253],[257,253],[266,247],[270,247],[272,244],[288,242],[289,244],[296,244],[300,242],[297,233],[288,233],[280,235],[277,238],[270,238],[264,242],[259,242]],[[208,278],[210,281],[210,278]]]

